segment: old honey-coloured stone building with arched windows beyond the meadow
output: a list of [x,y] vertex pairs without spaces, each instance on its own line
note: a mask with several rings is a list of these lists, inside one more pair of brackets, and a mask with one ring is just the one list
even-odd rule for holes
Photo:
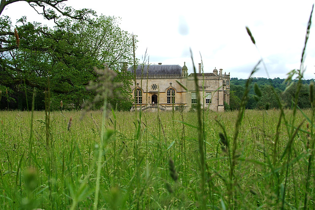
[[[131,73],[133,68],[128,69]],[[134,103],[131,110],[148,111],[172,110],[173,107],[194,108],[197,103],[197,92],[194,73],[188,75],[188,68],[180,65],[138,65],[135,70],[136,82],[131,86]],[[222,74],[222,69],[215,68],[213,73],[201,73],[199,63],[198,91],[202,108],[223,112],[224,102],[229,104],[230,75]],[[185,90],[179,81],[188,90]]]

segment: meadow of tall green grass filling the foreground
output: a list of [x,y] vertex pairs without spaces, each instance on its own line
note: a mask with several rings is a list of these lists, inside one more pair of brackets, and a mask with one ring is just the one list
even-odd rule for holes
[[303,112],[204,111],[200,127],[197,112],[1,111],[0,206],[314,209]]

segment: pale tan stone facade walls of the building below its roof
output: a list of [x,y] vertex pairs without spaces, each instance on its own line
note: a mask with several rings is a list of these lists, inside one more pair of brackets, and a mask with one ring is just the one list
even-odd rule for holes
[[[216,112],[224,111],[224,102],[229,104],[229,82],[230,75],[222,75],[222,69],[220,74],[215,69],[214,73],[197,73],[198,91],[201,96],[201,105],[203,108],[208,108]],[[188,91],[186,91],[177,82],[181,82]],[[165,110],[172,110],[173,104],[167,103],[167,90],[172,88],[175,90],[175,103],[174,106],[184,106],[186,110],[190,110],[193,107],[191,104],[191,92],[195,92],[194,74],[190,74],[188,77],[180,76],[163,76],[155,75],[148,78],[136,79],[136,87],[134,83],[131,87],[132,94],[136,88],[142,90],[142,104],[136,104],[136,107],[152,105],[153,98],[157,98],[155,103],[165,106]],[[204,87],[204,90],[203,88]],[[206,103],[206,93],[211,92],[211,103]]]

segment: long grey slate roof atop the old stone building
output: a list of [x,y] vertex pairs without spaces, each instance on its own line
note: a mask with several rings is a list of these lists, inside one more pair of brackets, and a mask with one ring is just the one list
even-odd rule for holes
[[[149,66],[149,69],[148,69]],[[142,72],[143,69],[143,72]],[[136,75],[174,75],[182,74],[182,67],[180,65],[138,65]],[[128,68],[128,71],[133,73],[133,67]]]

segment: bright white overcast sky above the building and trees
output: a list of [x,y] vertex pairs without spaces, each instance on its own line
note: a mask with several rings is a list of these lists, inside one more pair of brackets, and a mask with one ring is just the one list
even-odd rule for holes
[[[151,64],[183,66],[186,62],[192,72],[191,49],[196,67],[201,54],[204,72],[222,68],[223,73],[244,79],[260,57],[270,78],[286,78],[287,72],[300,68],[313,3],[314,0],[66,1],[75,9],[91,8],[99,15],[121,17],[121,28],[138,36],[139,60],[143,60],[147,49]],[[27,3],[16,2],[2,15],[10,16],[13,23],[22,15],[29,21],[42,22],[40,16],[27,8]],[[251,29],[258,50],[246,26]],[[305,59],[305,79],[315,78],[314,25]],[[254,76],[267,77],[263,66]]]

